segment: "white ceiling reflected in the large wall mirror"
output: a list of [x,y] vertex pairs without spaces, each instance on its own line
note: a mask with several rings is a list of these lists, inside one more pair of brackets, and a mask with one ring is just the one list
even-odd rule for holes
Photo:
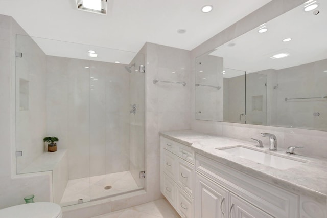
[[[255,28],[218,47],[211,55],[224,58],[224,67],[257,72],[284,69],[327,58],[327,2],[319,1],[320,11],[305,12],[304,5],[270,20],[268,31],[258,33]],[[283,42],[285,38],[292,38]],[[228,46],[235,43],[235,46]],[[272,55],[287,52],[290,56],[272,59]],[[327,69],[326,69],[327,70]]]

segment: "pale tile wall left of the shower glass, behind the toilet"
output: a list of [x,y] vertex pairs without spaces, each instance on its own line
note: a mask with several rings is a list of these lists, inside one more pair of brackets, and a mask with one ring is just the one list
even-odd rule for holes
[[50,175],[15,176],[15,51],[16,34],[26,34],[9,16],[0,15],[0,208],[24,203],[35,194],[36,201],[50,201]]

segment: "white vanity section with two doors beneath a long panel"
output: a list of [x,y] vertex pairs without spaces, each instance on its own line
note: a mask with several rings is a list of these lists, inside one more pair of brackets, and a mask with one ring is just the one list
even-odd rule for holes
[[299,217],[299,196],[196,154],[195,216]]

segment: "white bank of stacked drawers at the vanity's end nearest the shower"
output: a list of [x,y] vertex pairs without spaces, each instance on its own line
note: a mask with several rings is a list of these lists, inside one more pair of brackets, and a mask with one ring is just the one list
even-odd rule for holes
[[160,190],[181,217],[194,217],[194,152],[161,137]]

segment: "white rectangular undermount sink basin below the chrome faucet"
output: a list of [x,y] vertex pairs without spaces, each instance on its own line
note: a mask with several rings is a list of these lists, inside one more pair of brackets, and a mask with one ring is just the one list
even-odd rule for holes
[[268,154],[265,151],[247,148],[244,146],[237,146],[232,148],[216,148],[218,150],[227,152],[231,155],[245,158],[256,163],[261,163],[277,169],[288,169],[305,164],[305,160],[295,160],[294,158],[282,157]]

